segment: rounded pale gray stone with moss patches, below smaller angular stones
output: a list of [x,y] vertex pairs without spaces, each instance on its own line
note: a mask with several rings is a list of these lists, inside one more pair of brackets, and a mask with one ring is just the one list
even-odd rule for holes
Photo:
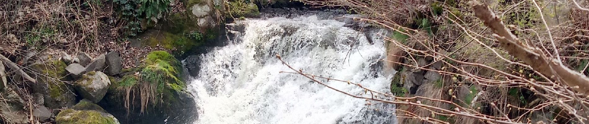
[[82,75],[82,78],[75,84],[75,89],[83,98],[97,103],[104,98],[110,83],[106,74],[92,71]]

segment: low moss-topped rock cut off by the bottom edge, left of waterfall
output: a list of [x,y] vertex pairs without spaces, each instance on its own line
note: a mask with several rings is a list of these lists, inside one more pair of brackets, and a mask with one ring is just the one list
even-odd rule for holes
[[97,110],[65,109],[55,118],[57,124],[118,124],[118,120],[108,113]]

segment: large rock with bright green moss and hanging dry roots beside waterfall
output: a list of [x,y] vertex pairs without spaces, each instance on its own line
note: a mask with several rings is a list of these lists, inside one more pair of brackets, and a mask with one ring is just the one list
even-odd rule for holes
[[186,83],[180,78],[181,63],[172,54],[150,52],[134,71],[120,79],[111,79],[112,85],[105,96],[108,112],[117,117],[129,116],[122,121],[134,123],[164,119],[168,123],[186,123],[196,118],[194,98],[184,92]]

